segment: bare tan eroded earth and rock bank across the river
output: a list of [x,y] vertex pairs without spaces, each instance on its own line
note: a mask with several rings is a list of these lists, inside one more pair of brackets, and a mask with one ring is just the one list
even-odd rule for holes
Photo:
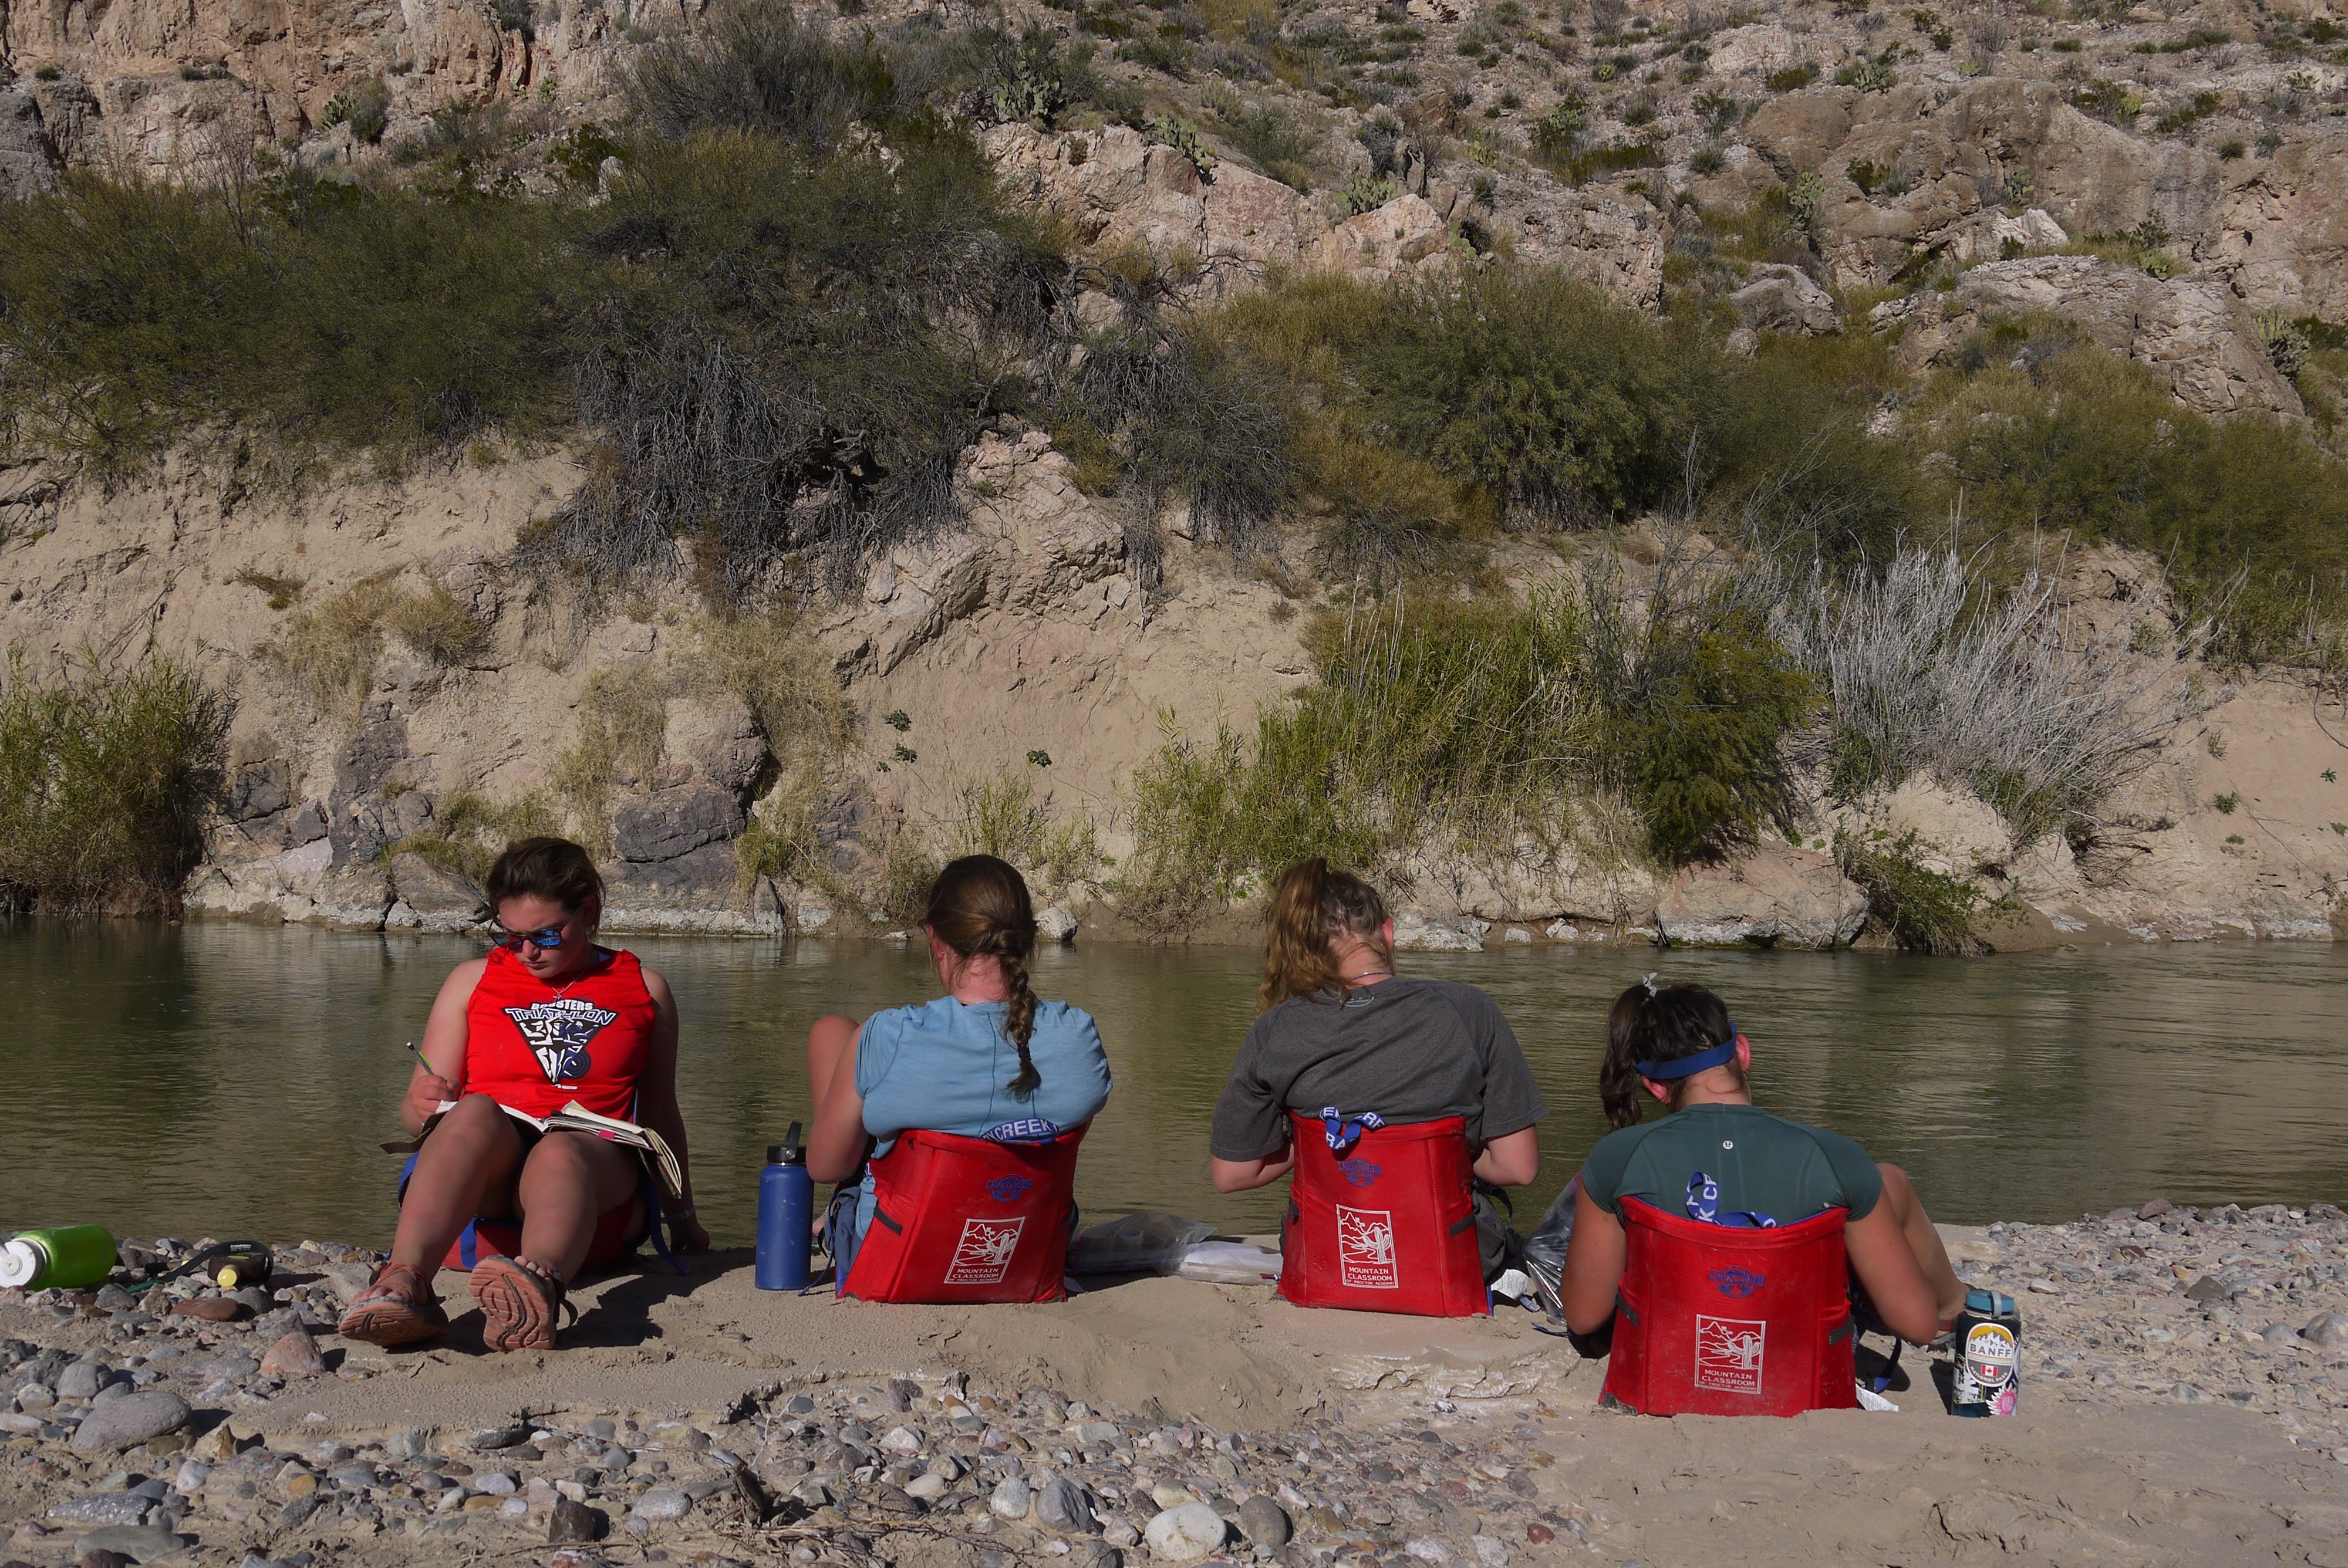
[[[566,758],[625,728],[606,699],[620,688],[653,704],[657,744],[608,779],[610,925],[852,934],[888,927],[895,847],[967,843],[1005,782],[1038,831],[1087,824],[1094,852],[1125,859],[1125,789],[1165,725],[1244,723],[1310,674],[1291,601],[1179,530],[1143,615],[1122,533],[1066,460],[1040,432],[989,437],[963,465],[967,521],[873,563],[862,592],[801,624],[857,728],[808,798],[817,869],[744,876],[744,831],[798,789],[784,763],[801,751],[702,678],[711,627],[681,594],[564,606],[495,566],[571,472],[547,458],[239,502],[200,469],[113,498],[9,469],[0,643],[47,662],[153,638],[228,685],[235,775],[190,913],[369,930],[470,925],[479,887],[404,845],[467,812],[561,800]],[[1538,552],[1505,566],[1519,582],[1559,570]],[[2083,629],[2158,610],[2141,559],[2099,552],[2069,584]],[[481,636],[451,662],[385,631],[350,690],[322,692],[286,657],[291,631],[352,589],[441,594]],[[2015,845],[1972,796],[1914,779],[1817,807],[1801,843],[1669,878],[1594,850],[1430,854],[1411,869],[1404,941],[1838,946],[1867,930],[1869,904],[1827,852],[1836,833],[1916,833],[1928,869],[2003,899],[1984,927],[2003,948],[2332,939],[2348,714],[2289,676],[2219,685],[2195,667],[2153,697],[2174,702],[2188,681],[2191,718],[2076,843]],[[1087,854],[1045,892],[1097,932],[1129,930],[1113,878]]]

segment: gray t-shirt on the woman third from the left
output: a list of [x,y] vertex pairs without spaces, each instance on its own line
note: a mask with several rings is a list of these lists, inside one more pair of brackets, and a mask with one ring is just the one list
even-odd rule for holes
[[1270,1160],[1289,1145],[1287,1113],[1324,1106],[1388,1122],[1456,1115],[1477,1148],[1550,1115],[1500,1007],[1428,979],[1289,998],[1256,1019],[1214,1108],[1214,1157]]

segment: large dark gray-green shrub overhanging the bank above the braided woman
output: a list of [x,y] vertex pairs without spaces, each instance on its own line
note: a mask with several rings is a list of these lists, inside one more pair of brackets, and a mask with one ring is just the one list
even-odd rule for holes
[[965,134],[909,122],[885,155],[812,167],[740,131],[648,146],[599,216],[592,246],[662,265],[571,336],[608,453],[524,542],[526,568],[608,580],[690,554],[733,599],[789,552],[841,582],[951,514],[956,455],[1043,329],[1054,270]]

